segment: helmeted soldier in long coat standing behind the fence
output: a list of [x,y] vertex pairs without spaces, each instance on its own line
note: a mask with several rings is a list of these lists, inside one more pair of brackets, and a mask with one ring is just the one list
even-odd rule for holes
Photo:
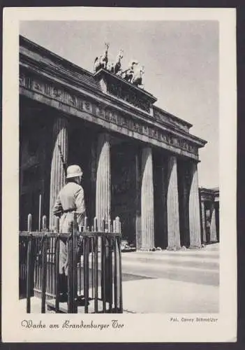
[[[60,232],[69,232],[73,221],[73,214],[77,213],[78,226],[84,225],[85,204],[84,191],[80,186],[82,180],[82,169],[78,165],[70,165],[67,168],[67,183],[59,192],[54,204],[54,215],[60,218]],[[59,286],[60,301],[67,300],[67,274],[68,274],[68,252],[66,241],[60,241],[59,253]]]

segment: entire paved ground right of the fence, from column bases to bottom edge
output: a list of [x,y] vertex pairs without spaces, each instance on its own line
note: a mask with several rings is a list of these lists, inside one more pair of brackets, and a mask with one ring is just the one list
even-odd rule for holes
[[123,253],[122,271],[128,311],[218,312],[218,244],[200,251]]

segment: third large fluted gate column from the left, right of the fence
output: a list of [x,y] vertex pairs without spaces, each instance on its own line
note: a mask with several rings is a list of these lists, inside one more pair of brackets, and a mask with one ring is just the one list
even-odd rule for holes
[[154,247],[154,189],[151,147],[142,149],[141,249]]

